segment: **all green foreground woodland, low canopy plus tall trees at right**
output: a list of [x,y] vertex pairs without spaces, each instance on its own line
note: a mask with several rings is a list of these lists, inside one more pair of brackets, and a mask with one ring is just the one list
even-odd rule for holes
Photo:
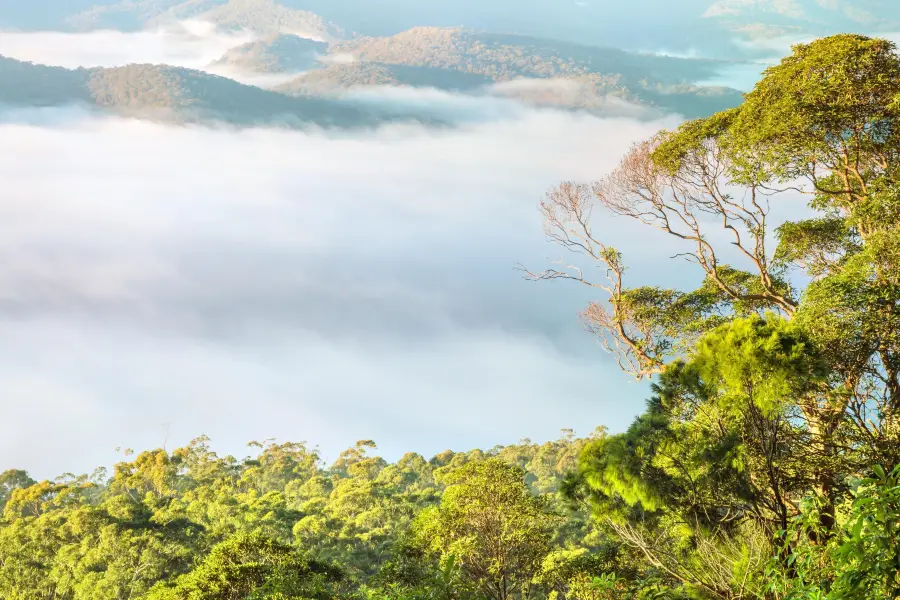
[[[896,47],[823,38],[548,193],[569,259],[522,270],[597,293],[586,327],[650,382],[627,431],[395,463],[362,441],[330,466],[199,438],[111,473],[7,471],[0,597],[900,597],[898,118]],[[671,237],[659,260],[699,287],[629,287],[611,219]]]

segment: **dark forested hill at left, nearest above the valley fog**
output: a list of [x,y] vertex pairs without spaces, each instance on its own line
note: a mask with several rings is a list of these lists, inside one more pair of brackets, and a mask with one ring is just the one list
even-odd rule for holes
[[82,104],[176,123],[360,127],[399,118],[332,99],[296,98],[200,71],[160,65],[68,70],[0,57],[0,104]]

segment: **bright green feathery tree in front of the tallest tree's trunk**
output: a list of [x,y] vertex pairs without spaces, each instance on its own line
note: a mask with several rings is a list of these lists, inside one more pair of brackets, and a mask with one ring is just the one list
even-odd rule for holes
[[722,325],[660,375],[625,433],[586,448],[566,491],[675,582],[755,597],[823,464],[794,404],[818,368],[791,323]]

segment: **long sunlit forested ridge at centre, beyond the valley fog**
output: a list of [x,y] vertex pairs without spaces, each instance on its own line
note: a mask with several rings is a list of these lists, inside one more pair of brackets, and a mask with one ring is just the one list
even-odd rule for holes
[[491,93],[541,106],[620,111],[623,104],[707,115],[737,105],[740,92],[695,82],[728,63],[642,55],[462,28],[419,27],[329,48],[327,68],[279,88],[334,94],[369,85]]

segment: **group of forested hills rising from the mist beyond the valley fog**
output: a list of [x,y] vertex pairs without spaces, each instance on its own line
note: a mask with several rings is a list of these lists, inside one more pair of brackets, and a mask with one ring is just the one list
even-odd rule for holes
[[417,28],[330,46],[271,35],[231,49],[210,67],[244,74],[310,69],[275,89],[169,65],[67,70],[0,56],[0,104],[74,103],[176,123],[239,126],[361,127],[441,119],[408,106],[360,103],[344,93],[401,85],[602,115],[626,110],[694,117],[740,102],[737,90],[693,83],[714,76],[723,64],[461,29]]

